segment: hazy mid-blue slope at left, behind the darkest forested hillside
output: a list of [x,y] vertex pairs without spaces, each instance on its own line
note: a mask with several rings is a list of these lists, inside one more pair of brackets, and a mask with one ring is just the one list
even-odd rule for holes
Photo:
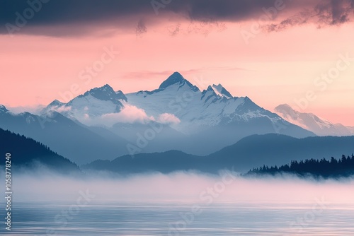
[[[5,108],[6,109],[6,108]],[[88,163],[100,156],[115,158],[127,153],[124,139],[108,140],[58,112],[37,116],[28,112],[0,112],[0,128],[34,138],[75,163]]]

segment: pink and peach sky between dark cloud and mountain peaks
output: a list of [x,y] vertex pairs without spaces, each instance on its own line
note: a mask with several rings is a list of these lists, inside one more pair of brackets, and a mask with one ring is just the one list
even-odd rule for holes
[[[331,122],[354,126],[354,60],[331,83],[314,84],[318,76],[336,68],[340,54],[354,58],[353,23],[261,32],[246,44],[241,32],[253,23],[191,23],[170,18],[152,24],[142,34],[135,28],[110,33],[104,28],[69,37],[0,35],[0,104],[67,102],[61,94],[73,84],[78,87],[75,96],[106,83],[123,93],[153,90],[170,73],[179,71],[200,89],[222,83],[232,95],[248,96],[268,110],[287,103]],[[101,59],[103,48],[110,47],[120,54],[89,83],[80,80],[79,73]],[[295,100],[303,101],[309,90],[316,98],[307,100],[306,106],[297,105]]]

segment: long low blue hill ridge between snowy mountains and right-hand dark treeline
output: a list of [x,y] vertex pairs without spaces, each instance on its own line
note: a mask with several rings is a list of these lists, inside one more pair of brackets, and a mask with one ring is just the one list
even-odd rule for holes
[[115,160],[96,160],[83,170],[108,170],[120,174],[198,170],[217,173],[234,167],[244,172],[263,165],[281,165],[291,160],[341,156],[354,153],[354,136],[292,138],[280,134],[253,135],[207,156],[181,151],[125,155]]

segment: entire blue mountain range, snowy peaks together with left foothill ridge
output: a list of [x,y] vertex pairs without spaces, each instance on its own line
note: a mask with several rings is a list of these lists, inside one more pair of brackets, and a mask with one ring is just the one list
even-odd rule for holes
[[39,114],[0,106],[0,128],[34,138],[79,165],[171,150],[205,157],[253,135],[295,141],[318,134],[289,119],[288,107],[277,108],[280,115],[221,84],[200,90],[175,72],[155,90],[125,94],[106,84],[67,103],[54,100]]

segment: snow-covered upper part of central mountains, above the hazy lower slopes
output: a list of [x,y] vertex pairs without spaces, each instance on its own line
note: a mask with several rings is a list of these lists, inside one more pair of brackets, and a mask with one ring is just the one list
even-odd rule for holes
[[268,117],[272,122],[273,119],[275,122],[280,119],[247,97],[233,97],[221,84],[213,84],[200,91],[178,72],[169,76],[156,90],[125,95],[121,90],[115,92],[106,84],[79,95],[67,104],[62,105],[56,100],[52,105],[57,108],[63,106],[60,111],[62,114],[87,125],[105,122],[101,118],[108,115],[112,119],[121,118],[122,110],[136,107],[131,112],[144,113],[156,121],[162,115],[164,120],[169,120],[173,129],[185,134],[205,127],[248,122],[260,117]]

